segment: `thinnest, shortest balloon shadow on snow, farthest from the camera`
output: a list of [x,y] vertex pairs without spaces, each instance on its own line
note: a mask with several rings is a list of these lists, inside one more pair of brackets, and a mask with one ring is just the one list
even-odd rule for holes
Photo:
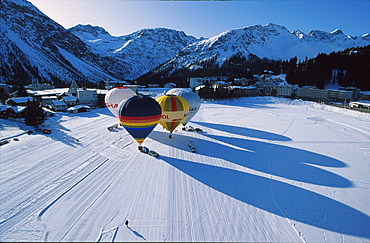
[[274,140],[274,141],[291,141],[292,139],[286,137],[284,135],[251,129],[247,127],[239,127],[239,126],[232,126],[232,125],[225,125],[225,124],[214,124],[208,122],[197,122],[192,121],[192,123],[199,124],[201,126],[209,127],[212,129],[229,132],[233,134],[239,134],[243,136],[259,138],[259,139],[267,139],[267,140]]

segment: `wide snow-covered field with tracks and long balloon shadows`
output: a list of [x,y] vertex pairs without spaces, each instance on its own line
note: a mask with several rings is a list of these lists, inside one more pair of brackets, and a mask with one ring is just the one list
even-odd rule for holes
[[144,141],[158,158],[108,131],[107,108],[59,113],[45,135],[0,121],[0,241],[370,241],[368,113],[203,101],[203,132],[158,124]]

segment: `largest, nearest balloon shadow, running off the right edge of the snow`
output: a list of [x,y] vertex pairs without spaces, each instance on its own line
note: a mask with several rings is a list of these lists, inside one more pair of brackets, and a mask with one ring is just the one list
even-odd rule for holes
[[264,211],[333,232],[370,237],[370,217],[338,201],[284,182],[167,156],[161,159],[195,180]]

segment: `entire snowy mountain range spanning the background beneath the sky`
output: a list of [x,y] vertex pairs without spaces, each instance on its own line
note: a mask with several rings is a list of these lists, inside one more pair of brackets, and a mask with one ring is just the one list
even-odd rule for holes
[[305,34],[271,23],[208,39],[166,28],[114,37],[91,25],[66,30],[26,0],[3,0],[0,5],[0,79],[8,83],[134,80],[148,72],[166,76],[178,69],[220,65],[235,55],[304,59],[370,45],[369,34],[352,37],[340,30]]

